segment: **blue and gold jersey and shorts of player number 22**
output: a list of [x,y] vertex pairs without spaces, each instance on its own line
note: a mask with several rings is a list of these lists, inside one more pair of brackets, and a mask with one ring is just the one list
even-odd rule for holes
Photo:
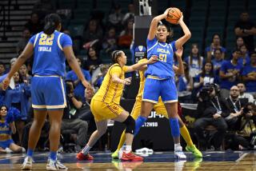
[[63,109],[66,95],[63,83],[65,55],[63,48],[72,46],[70,36],[54,31],[43,32],[30,38],[34,45],[34,63],[31,81],[32,107],[34,109]]

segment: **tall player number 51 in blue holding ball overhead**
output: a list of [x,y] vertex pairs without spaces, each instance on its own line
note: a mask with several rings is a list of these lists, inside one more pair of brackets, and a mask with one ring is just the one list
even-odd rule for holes
[[158,97],[162,97],[162,101],[166,106],[166,111],[170,120],[171,134],[174,138],[174,155],[179,159],[186,159],[186,155],[182,152],[180,145],[180,131],[178,125],[178,95],[174,81],[174,52],[190,39],[190,30],[183,22],[183,16],[178,20],[178,24],[182,26],[184,35],[177,41],[166,43],[166,37],[169,34],[166,26],[159,25],[162,19],[167,18],[167,9],[164,14],[153,18],[150,24],[149,34],[147,36],[147,58],[153,55],[158,56],[158,62],[148,65],[145,77],[145,88],[142,96],[141,115],[136,120],[135,133],[144,125],[146,118],[150,115],[154,105],[158,103]]

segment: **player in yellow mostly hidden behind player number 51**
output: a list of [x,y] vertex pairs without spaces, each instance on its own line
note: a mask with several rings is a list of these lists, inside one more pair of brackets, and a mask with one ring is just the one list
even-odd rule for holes
[[[183,63],[182,63],[182,50],[177,50],[175,52],[175,54],[178,59],[179,67],[173,66],[174,72],[175,72],[175,74],[184,74]],[[147,59],[143,58],[139,61],[139,63],[146,62],[146,61],[147,61]],[[146,66],[143,66],[142,70],[139,71],[140,87],[138,89],[138,95],[137,95],[136,101],[134,103],[134,108],[130,114],[131,117],[133,117],[135,121],[138,119],[138,116],[141,113],[142,93],[143,93],[144,84],[145,84],[145,77],[144,77],[145,71],[146,71]],[[154,110],[156,111],[157,114],[162,114],[163,116],[168,118],[168,114],[166,112],[166,108],[165,108],[164,103],[162,102],[161,97],[159,97],[158,104],[154,105]],[[191,137],[190,137],[190,133],[186,129],[186,125],[184,125],[184,123],[180,117],[178,117],[178,123],[180,125],[180,132],[182,134],[182,137],[184,138],[184,140],[186,141],[186,144],[187,144],[186,150],[192,152],[194,154],[194,157],[202,157],[202,153],[193,144],[193,141],[191,140]],[[136,136],[135,133],[134,133],[134,136]],[[125,141],[125,133],[123,132],[122,136],[120,138],[119,144],[118,144],[118,149],[116,149],[116,151],[114,153],[112,153],[112,155],[111,155],[113,158],[118,158],[118,152],[122,148],[124,141]]]

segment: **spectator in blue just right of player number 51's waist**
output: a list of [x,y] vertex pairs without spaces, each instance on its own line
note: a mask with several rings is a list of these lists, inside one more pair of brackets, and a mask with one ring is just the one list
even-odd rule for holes
[[190,77],[190,68],[183,62],[184,75],[178,77],[178,101],[181,103],[191,102],[191,91],[193,89],[193,78]]

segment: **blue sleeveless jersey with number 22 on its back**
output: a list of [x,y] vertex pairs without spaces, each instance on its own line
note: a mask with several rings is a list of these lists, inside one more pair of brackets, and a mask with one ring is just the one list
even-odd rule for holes
[[41,76],[58,75],[64,77],[66,65],[63,48],[72,46],[70,36],[58,31],[47,35],[43,32],[30,38],[34,45],[34,63],[32,74]]

